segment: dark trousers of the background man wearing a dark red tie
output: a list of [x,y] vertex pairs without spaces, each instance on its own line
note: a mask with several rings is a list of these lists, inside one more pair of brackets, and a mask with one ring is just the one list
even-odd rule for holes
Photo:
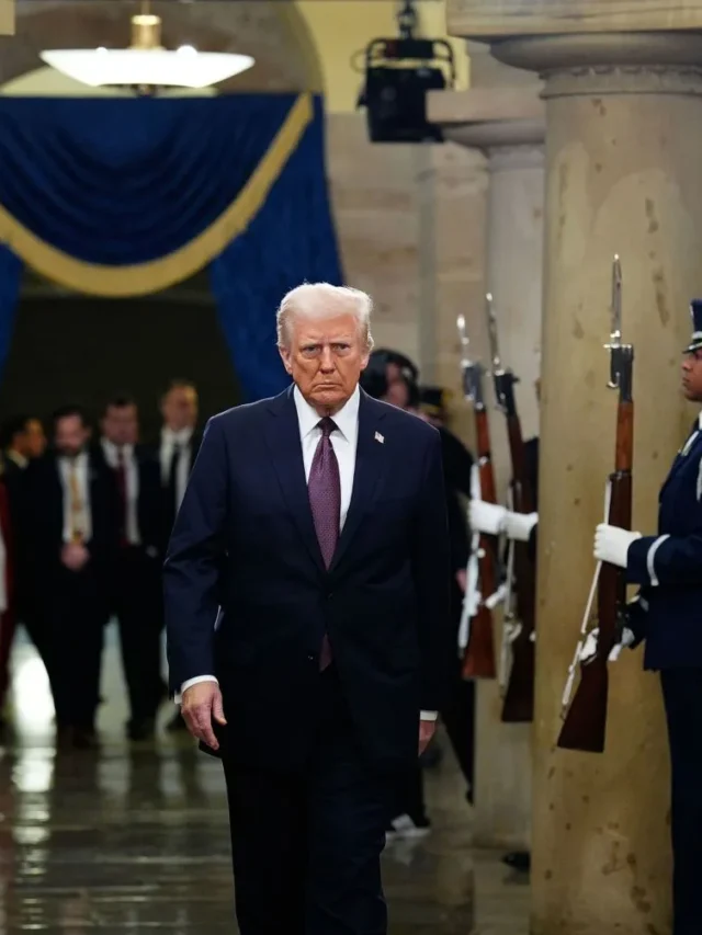
[[113,611],[133,722],[154,718],[163,694],[160,572],[158,558],[150,558],[140,548],[126,547],[120,554]]

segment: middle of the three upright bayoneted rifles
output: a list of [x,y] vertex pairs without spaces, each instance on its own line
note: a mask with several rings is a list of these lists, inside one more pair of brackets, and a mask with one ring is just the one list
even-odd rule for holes
[[[495,396],[498,408],[507,419],[507,437],[512,465],[511,509],[516,513],[533,513],[535,498],[526,477],[524,442],[514,399],[514,384],[519,378],[511,369],[502,366],[491,296],[488,295],[487,299]],[[511,650],[512,665],[503,696],[501,719],[507,723],[519,723],[531,721],[534,717],[536,569],[528,543],[510,543],[510,549],[513,549],[518,624],[517,626],[513,624],[513,614],[508,607],[505,614],[502,640],[507,641]]]

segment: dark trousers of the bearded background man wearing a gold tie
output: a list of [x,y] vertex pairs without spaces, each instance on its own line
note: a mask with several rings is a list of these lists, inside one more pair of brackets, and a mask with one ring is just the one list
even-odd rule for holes
[[47,671],[56,726],[91,730],[100,700],[100,669],[109,602],[90,563],[61,569],[45,595]]

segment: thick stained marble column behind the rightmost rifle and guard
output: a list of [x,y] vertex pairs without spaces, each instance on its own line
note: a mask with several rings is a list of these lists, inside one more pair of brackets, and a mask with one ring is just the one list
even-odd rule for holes
[[[473,2],[455,0],[463,35],[477,22]],[[475,3],[489,15],[483,0]],[[666,732],[657,679],[642,672],[638,652],[611,666],[605,753],[566,752],[555,741],[614,459],[615,398],[602,344],[615,252],[624,335],[636,354],[635,528],[655,531],[658,489],[692,418],[678,385],[688,301],[702,292],[702,37],[627,33],[637,13],[648,23],[663,16],[637,0],[619,4],[616,33],[598,32],[597,16],[587,21],[582,11],[580,34],[524,38],[557,26],[526,24],[525,9],[514,15],[520,5],[508,4],[501,23],[492,15],[489,30],[494,56],[540,72],[546,100],[531,931],[668,933]],[[541,0],[534,10],[553,16],[563,7],[565,15],[567,5]],[[596,5],[607,19],[610,4]],[[688,26],[699,28],[702,10],[686,10]]]

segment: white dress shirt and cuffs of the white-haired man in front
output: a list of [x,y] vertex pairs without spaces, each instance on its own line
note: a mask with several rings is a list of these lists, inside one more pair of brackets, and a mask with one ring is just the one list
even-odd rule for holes
[[[297,410],[297,424],[299,426],[299,441],[303,447],[303,464],[305,466],[305,480],[309,481],[309,471],[312,463],[321,437],[321,429],[319,429],[320,415],[317,410],[310,406],[303,397],[302,392],[295,387],[293,390],[293,399],[295,400],[295,409]],[[355,472],[355,452],[359,442],[359,403],[361,392],[359,387],[353,391],[353,395],[347,400],[336,415],[332,417],[333,423],[337,426],[331,433],[330,441],[333,453],[337,456],[339,464],[339,484],[341,487],[341,510],[339,516],[339,529],[343,529],[349,505],[351,503],[351,493],[353,491],[353,475]],[[196,685],[199,682],[216,682],[214,675],[199,675],[195,679],[189,679],[181,686],[181,695],[185,688],[191,685]],[[177,696],[177,702],[180,697]],[[435,720],[435,711],[422,711],[422,720]]]

